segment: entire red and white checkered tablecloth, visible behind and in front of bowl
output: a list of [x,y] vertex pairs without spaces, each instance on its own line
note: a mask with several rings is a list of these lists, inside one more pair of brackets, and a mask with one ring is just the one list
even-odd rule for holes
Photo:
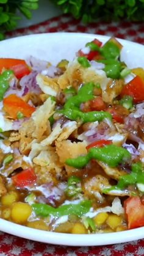
[[[79,20],[74,20],[69,15],[62,15],[43,23],[18,29],[7,33],[7,38],[20,35],[44,32],[85,32],[101,35],[110,35],[144,45],[143,23],[98,22],[84,25]],[[110,234],[109,234],[110,235]],[[122,235],[122,233],[121,233]],[[0,232],[0,256],[142,256],[144,255],[144,240],[132,241],[109,246],[68,247],[29,241]]]

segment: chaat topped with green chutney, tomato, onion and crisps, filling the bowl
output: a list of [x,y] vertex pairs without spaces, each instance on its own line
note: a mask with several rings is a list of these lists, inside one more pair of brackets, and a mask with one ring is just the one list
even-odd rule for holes
[[95,38],[56,65],[0,59],[0,217],[51,232],[144,225],[144,70]]

